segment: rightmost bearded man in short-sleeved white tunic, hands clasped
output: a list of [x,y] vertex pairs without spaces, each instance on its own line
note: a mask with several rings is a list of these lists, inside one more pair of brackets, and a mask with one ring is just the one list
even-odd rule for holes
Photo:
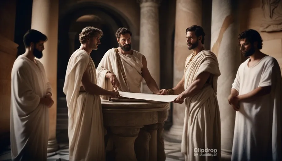
[[232,160],[282,160],[282,78],[277,60],[260,51],[262,38],[252,29],[239,34],[242,63],[229,103],[236,112]]

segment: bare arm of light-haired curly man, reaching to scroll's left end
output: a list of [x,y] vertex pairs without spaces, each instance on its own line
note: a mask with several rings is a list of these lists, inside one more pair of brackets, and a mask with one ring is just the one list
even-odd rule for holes
[[86,92],[89,92],[93,95],[101,95],[101,96],[111,96],[113,92],[105,90],[98,85],[90,82],[88,71],[85,70],[82,76],[82,86]]

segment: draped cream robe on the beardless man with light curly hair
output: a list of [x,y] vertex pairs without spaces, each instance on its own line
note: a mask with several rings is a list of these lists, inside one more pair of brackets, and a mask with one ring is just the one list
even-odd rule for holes
[[79,92],[82,75],[88,70],[90,81],[97,84],[96,69],[85,50],[78,49],[70,57],[63,92],[69,114],[70,161],[104,160],[104,126],[99,95]]

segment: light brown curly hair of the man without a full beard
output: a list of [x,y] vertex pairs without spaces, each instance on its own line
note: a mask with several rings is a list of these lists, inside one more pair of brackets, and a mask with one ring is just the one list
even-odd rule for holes
[[84,44],[87,38],[91,38],[95,36],[101,38],[103,36],[103,31],[92,26],[87,26],[84,29],[82,29],[81,33],[79,34],[79,42],[81,44]]

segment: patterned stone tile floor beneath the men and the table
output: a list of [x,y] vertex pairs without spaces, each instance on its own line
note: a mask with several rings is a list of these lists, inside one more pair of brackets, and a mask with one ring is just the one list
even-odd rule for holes
[[[165,141],[165,152],[167,161],[184,160],[181,153],[181,143],[173,143]],[[59,150],[54,153],[48,153],[48,161],[66,161],[69,160],[68,144],[59,144]],[[0,161],[10,161],[11,153],[10,148],[7,147],[3,152],[0,152]]]

